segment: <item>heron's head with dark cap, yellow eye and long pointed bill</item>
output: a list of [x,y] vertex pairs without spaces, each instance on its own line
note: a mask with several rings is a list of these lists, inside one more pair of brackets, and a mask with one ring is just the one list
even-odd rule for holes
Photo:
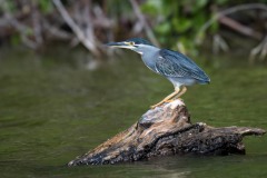
[[141,38],[131,38],[126,41],[120,42],[109,42],[107,46],[117,47],[117,48],[127,48],[134,50],[140,55],[144,52],[149,52],[149,49],[156,48],[150,42]]

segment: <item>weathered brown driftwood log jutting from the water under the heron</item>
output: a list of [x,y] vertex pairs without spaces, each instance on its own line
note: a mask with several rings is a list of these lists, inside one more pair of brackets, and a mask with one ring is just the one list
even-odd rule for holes
[[243,137],[265,132],[250,127],[215,128],[204,122],[191,123],[185,103],[175,100],[148,110],[129,129],[68,165],[106,165],[181,154],[244,155]]

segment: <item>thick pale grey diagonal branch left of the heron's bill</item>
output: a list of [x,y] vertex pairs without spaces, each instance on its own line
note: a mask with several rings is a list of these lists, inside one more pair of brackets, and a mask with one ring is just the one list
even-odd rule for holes
[[[93,29],[92,28],[87,28],[87,31],[82,31],[82,29],[75,23],[72,18],[69,16],[67,10],[65,9],[63,4],[61,3],[60,0],[53,0],[53,4],[57,7],[59,10],[60,14],[65,19],[65,21],[68,23],[68,26],[72,29],[72,31],[76,33],[78,37],[79,41],[88,49],[90,50],[95,56],[100,56],[99,50],[96,47],[96,39],[91,37],[93,34]],[[91,24],[92,26],[92,24]],[[87,34],[90,34],[88,38]]]

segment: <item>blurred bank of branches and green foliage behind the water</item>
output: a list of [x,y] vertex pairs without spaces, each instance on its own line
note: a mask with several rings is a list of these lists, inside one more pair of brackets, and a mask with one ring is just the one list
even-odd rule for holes
[[[267,0],[12,0],[0,1],[0,42],[40,49],[60,40],[83,44],[95,57],[101,43],[146,37],[197,56],[204,43],[228,51],[237,36],[253,39],[250,59],[266,58]],[[229,36],[231,34],[231,36]],[[211,50],[210,50],[211,51]]]

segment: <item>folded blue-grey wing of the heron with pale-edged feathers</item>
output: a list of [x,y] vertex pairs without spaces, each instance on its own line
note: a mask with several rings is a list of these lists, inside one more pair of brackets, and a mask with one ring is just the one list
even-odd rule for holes
[[162,49],[156,61],[156,70],[166,77],[188,77],[209,82],[208,76],[188,57],[180,52]]

